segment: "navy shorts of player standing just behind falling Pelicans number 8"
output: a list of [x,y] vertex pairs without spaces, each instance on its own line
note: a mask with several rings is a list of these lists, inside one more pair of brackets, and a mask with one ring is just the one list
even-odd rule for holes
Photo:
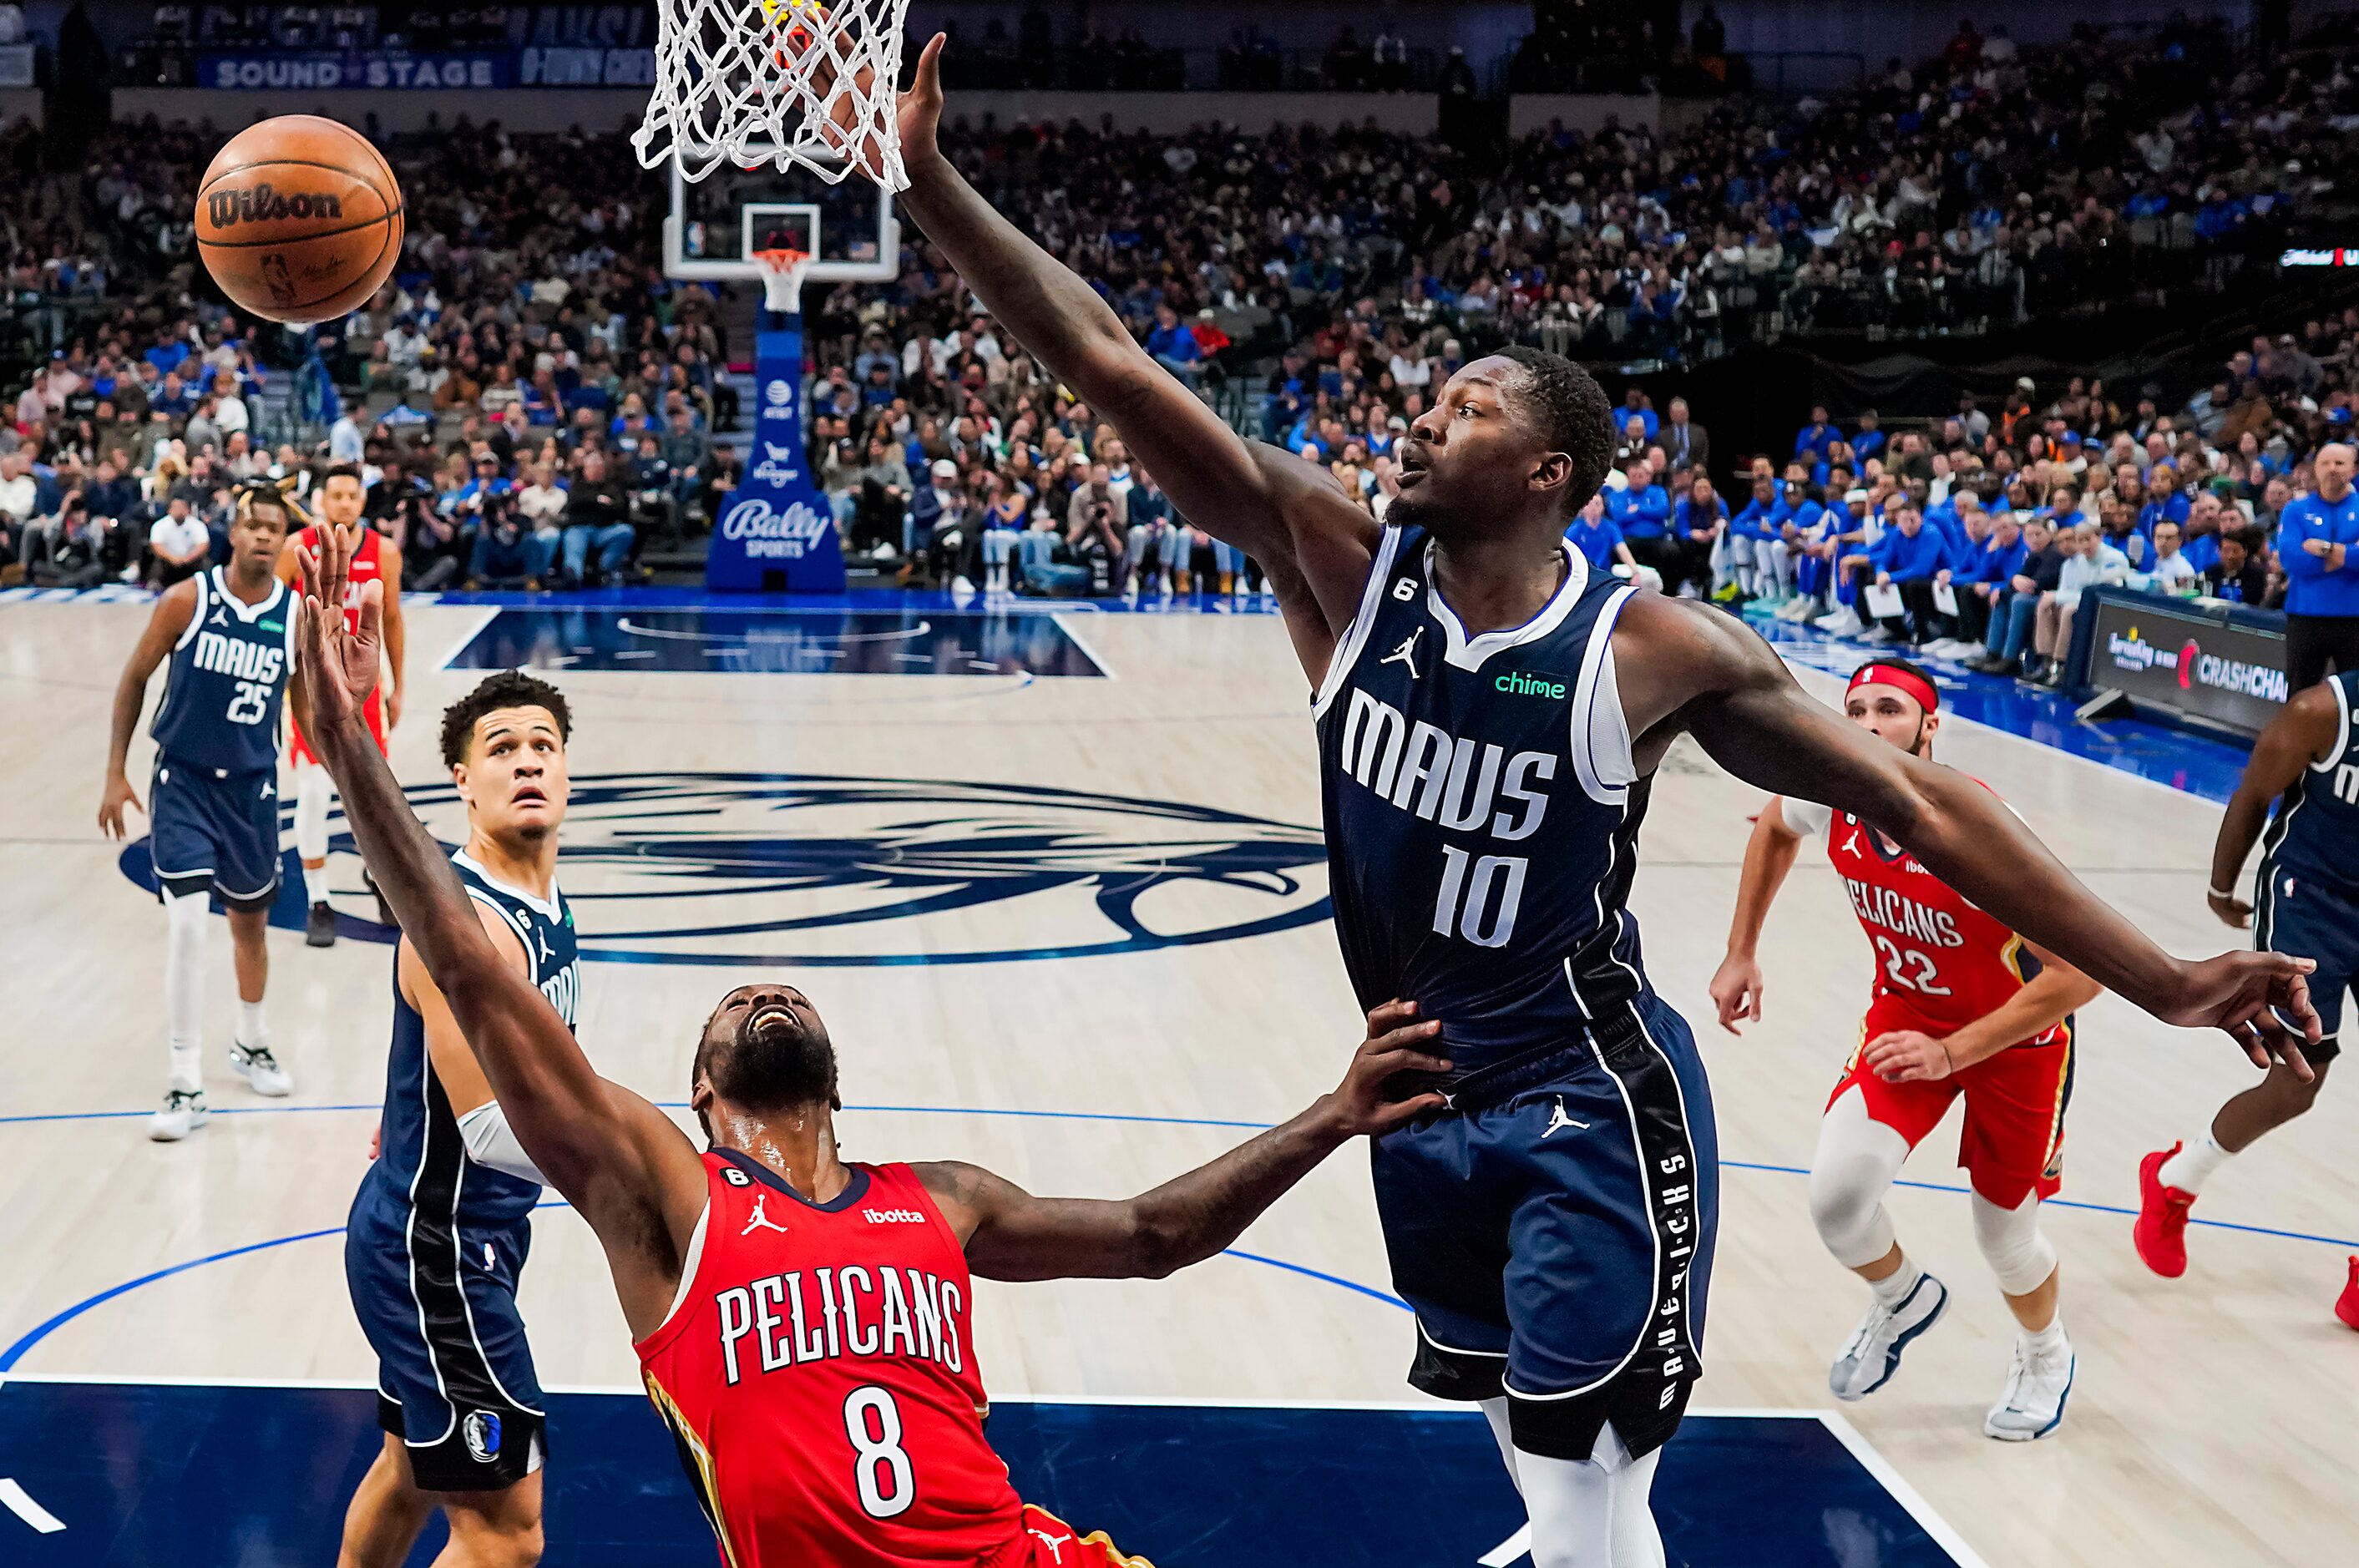
[[377,1424],[429,1493],[491,1493],[547,1452],[540,1377],[517,1313],[533,1221],[415,1212],[370,1167],[344,1228],[344,1285],[377,1351]]

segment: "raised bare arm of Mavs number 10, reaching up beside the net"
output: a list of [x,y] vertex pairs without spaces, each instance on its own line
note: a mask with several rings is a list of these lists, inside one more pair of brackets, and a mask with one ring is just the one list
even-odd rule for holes
[[1262,564],[1295,653],[1319,679],[1359,608],[1375,559],[1375,521],[1326,469],[1231,431],[1130,337],[1097,290],[1024,238],[951,167],[934,137],[941,47],[939,35],[927,42],[896,111],[908,170],[903,210],[993,318],[1121,431],[1182,516]]

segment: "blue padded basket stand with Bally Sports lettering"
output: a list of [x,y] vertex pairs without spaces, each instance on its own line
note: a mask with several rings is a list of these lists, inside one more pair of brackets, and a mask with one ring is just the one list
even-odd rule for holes
[[786,321],[753,340],[753,448],[712,526],[705,587],[840,594],[845,547],[802,455],[802,318]]

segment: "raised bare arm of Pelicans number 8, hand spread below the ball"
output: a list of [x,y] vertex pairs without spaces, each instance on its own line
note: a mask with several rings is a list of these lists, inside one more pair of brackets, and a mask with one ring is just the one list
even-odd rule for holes
[[351,547],[333,528],[321,531],[321,559],[304,561],[304,736],[335,778],[361,858],[484,1063],[510,1129],[597,1231],[623,1313],[632,1332],[646,1332],[663,1323],[679,1285],[682,1252],[705,1203],[703,1160],[663,1111],[597,1075],[547,997],[502,962],[451,858],[410,811],[361,717],[382,655],[380,585],[363,585],[356,637],[347,637],[342,613],[321,608],[342,606],[349,564]]

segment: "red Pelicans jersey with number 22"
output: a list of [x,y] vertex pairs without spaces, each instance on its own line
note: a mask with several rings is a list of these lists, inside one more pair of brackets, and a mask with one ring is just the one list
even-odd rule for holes
[[[2041,971],[2022,936],[1857,816],[1793,799],[1781,811],[1798,832],[1826,823],[1826,858],[1835,863],[1859,929],[1875,948],[1871,1007],[1882,1028],[1953,1035],[1998,1012]],[[2064,1035],[2057,1023],[2024,1045],[2050,1045]]]

